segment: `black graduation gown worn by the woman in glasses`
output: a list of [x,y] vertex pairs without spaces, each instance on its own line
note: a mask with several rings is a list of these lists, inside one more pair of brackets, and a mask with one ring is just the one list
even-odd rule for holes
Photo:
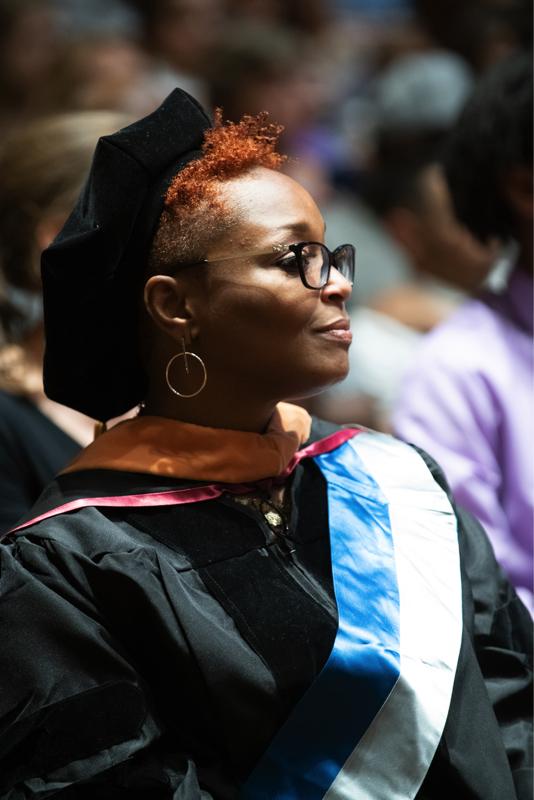
[[[315,424],[312,436],[330,430]],[[32,516],[77,497],[186,485],[72,473]],[[223,496],[82,508],[4,540],[0,798],[238,796],[336,633],[326,492],[310,459],[291,491],[282,538]],[[530,617],[480,526],[458,520],[462,647],[417,797],[530,800]]]

